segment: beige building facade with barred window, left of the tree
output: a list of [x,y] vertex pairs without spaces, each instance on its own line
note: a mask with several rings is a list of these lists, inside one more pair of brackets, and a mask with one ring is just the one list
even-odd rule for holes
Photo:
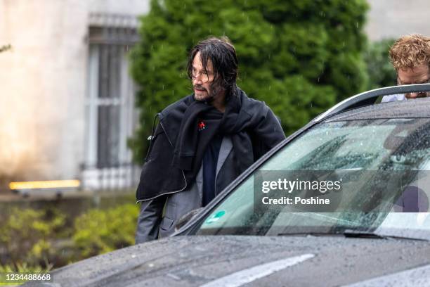
[[0,53],[0,178],[127,185],[136,125],[127,54],[148,9],[146,0],[0,0],[0,46],[12,45]]

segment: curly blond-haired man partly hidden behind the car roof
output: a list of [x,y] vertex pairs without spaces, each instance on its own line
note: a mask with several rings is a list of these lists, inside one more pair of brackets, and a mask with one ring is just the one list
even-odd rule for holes
[[[397,72],[397,84],[430,82],[430,38],[421,34],[403,36],[390,49],[390,60]],[[408,93],[384,96],[382,102],[402,101],[429,96],[429,93]]]

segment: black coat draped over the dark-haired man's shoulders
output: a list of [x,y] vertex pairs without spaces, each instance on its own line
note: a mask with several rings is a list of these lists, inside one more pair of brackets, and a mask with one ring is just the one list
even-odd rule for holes
[[[151,200],[165,194],[176,193],[187,189],[192,182],[187,180],[185,172],[172,165],[174,158],[174,147],[178,138],[179,127],[181,127],[182,115],[185,113],[193,94],[186,96],[176,103],[165,108],[157,116],[159,124],[151,136],[150,148],[145,158],[141,172],[141,179],[136,191],[136,200]],[[246,131],[252,141],[249,151],[241,154],[247,158],[240,158],[247,165],[237,165],[229,169],[234,174],[228,174],[227,178],[235,179],[245,171],[249,165],[258,160],[261,155],[285,139],[280,121],[273,114],[266,103],[249,98],[245,92],[239,89],[237,95],[240,99],[240,110],[237,125]],[[227,186],[226,182],[223,186]]]

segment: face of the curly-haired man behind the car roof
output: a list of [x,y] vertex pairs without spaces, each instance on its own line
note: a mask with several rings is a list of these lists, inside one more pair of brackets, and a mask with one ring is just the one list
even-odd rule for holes
[[[397,71],[397,84],[426,84],[430,81],[430,69],[428,65],[419,65],[415,68],[399,69]],[[422,98],[430,96],[429,92],[408,93],[405,97]]]

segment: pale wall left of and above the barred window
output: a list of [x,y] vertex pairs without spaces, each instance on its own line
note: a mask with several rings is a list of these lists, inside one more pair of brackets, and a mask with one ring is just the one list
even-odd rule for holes
[[0,177],[72,179],[84,160],[89,13],[146,0],[0,0]]

